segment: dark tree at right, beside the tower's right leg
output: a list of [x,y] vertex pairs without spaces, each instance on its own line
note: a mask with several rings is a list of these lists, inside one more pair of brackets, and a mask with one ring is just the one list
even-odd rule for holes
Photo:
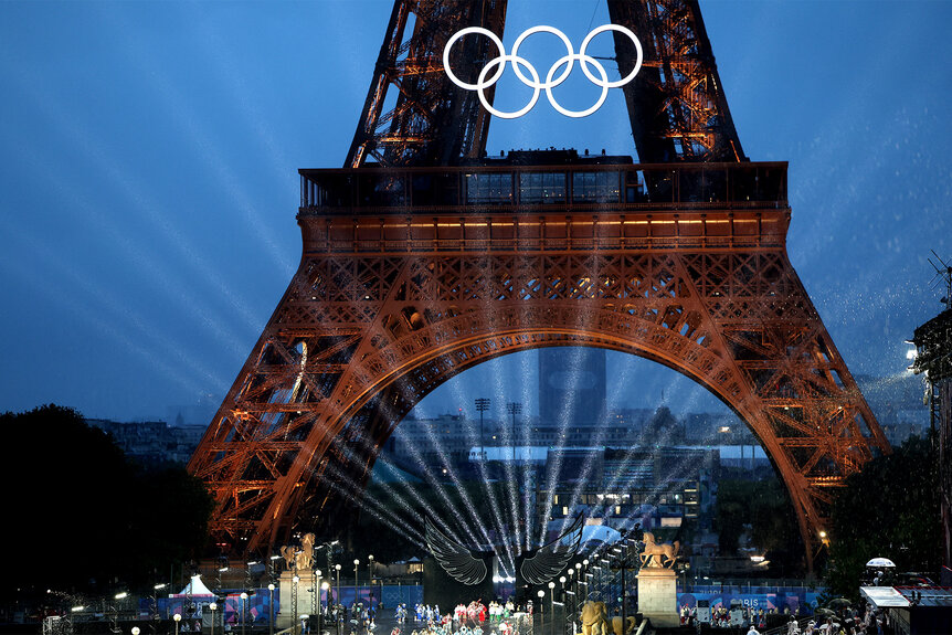
[[846,478],[831,518],[833,593],[856,597],[870,558],[889,558],[900,572],[939,570],[938,466],[932,441],[913,436]]

